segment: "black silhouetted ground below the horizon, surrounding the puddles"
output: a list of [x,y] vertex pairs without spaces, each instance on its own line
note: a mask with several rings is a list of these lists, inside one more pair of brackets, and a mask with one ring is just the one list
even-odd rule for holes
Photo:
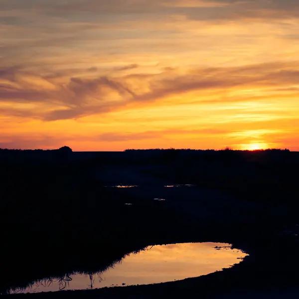
[[[2,295],[149,245],[209,241],[250,255],[179,282],[7,296],[299,298],[297,152],[2,152],[0,163]],[[138,187],[105,187],[117,184]]]

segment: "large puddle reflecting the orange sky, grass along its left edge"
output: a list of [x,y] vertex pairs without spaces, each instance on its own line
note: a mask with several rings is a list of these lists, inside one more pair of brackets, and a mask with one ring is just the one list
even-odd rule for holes
[[97,274],[65,275],[44,279],[11,293],[84,290],[114,286],[148,285],[198,277],[232,267],[247,254],[223,243],[180,243],[149,246],[132,253]]

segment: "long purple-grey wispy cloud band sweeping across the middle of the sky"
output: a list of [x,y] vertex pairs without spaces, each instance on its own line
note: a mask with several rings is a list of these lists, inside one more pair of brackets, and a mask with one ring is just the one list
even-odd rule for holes
[[[131,69],[123,67],[122,69]],[[47,121],[72,119],[124,109],[129,104],[146,105],[189,92],[225,91],[243,88],[278,88],[297,92],[299,64],[272,63],[228,68],[163,71],[158,74],[131,74],[120,77],[71,77],[63,84],[55,84],[51,74],[22,73],[18,67],[0,70],[0,102],[37,103],[10,111],[14,115],[41,118]],[[292,87],[293,86],[293,87]],[[236,97],[218,102],[238,101]],[[242,101],[243,99],[240,98]],[[253,97],[254,101],[254,97]],[[204,101],[203,101],[204,102]],[[200,103],[200,100],[198,101]],[[173,103],[175,105],[175,102]]]

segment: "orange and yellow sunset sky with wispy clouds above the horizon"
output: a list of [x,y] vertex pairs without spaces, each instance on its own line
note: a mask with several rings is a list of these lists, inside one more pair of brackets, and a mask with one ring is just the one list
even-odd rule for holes
[[299,0],[0,0],[0,148],[299,150]]

